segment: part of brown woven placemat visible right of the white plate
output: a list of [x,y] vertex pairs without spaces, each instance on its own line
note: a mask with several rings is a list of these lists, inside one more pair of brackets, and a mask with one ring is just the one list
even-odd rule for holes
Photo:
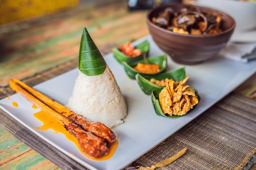
[[[241,170],[255,162],[256,102],[231,93],[202,113],[132,166],[152,166],[187,148],[168,170]],[[164,154],[161,154],[164,153]]]

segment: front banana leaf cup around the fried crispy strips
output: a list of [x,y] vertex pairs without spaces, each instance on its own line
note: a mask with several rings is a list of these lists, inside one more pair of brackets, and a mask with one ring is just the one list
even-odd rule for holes
[[[197,98],[198,98],[198,104],[199,104],[199,102],[200,102],[200,100],[201,100],[201,97],[200,97],[200,95],[198,95],[198,91],[197,91],[195,88],[191,87],[191,86],[190,86],[190,88],[192,88],[192,89],[195,91],[195,95],[196,95]],[[157,115],[159,115],[159,116],[171,117],[171,118],[184,116],[184,115],[181,115],[181,116],[179,116],[179,115],[168,116],[167,114],[164,114],[164,113],[163,113],[163,111],[162,111],[162,109],[161,109],[161,106],[160,106],[160,104],[159,104],[159,97],[158,97],[158,96],[159,96],[159,93],[162,91],[162,89],[163,89],[163,88],[156,88],[156,89],[154,89],[154,90],[152,91],[152,93],[151,93],[151,100],[152,100],[153,107],[154,107],[154,109],[155,109],[155,113],[156,113]],[[196,104],[195,106],[193,106],[193,108],[190,109],[185,115],[187,115],[187,114],[193,112],[193,111],[195,110],[195,108],[198,106],[198,104]]]

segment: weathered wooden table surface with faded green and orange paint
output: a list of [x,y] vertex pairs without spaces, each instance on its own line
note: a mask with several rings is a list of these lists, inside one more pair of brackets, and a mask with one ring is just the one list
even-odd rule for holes
[[[0,86],[75,59],[83,27],[99,50],[148,35],[146,11],[128,11],[126,0],[90,2],[72,9],[0,26]],[[256,99],[256,74],[235,90]],[[60,169],[0,128],[0,169]]]

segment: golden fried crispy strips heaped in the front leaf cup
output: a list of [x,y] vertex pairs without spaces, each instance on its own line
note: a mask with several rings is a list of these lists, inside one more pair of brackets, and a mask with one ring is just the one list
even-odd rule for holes
[[159,93],[159,104],[165,115],[185,115],[190,109],[198,104],[195,91],[186,85],[186,77],[180,82],[169,79],[166,86]]

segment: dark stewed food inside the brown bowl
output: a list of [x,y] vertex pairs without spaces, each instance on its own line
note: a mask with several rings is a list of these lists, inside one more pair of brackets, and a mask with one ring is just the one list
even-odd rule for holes
[[152,22],[162,28],[175,33],[191,35],[207,35],[222,31],[221,15],[205,13],[195,7],[184,7],[175,11],[166,7],[158,16],[152,18]]

